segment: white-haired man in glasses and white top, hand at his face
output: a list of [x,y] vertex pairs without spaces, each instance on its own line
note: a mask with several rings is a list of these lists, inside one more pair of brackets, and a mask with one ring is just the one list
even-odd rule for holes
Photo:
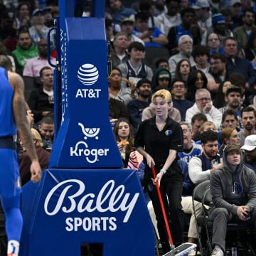
[[214,122],[216,129],[220,128],[222,114],[213,106],[210,92],[205,88],[196,91],[196,103],[186,111],[186,122],[191,123],[191,118],[197,113],[206,114],[208,121]]

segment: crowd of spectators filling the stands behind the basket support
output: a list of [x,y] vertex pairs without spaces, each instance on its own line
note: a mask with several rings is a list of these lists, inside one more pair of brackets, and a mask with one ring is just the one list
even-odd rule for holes
[[[77,2],[75,16],[92,14],[93,0]],[[134,148],[133,139],[139,125],[156,115],[151,95],[164,89],[172,98],[167,102],[168,118],[183,129],[184,154],[179,156],[186,161],[179,165],[186,182],[196,186],[202,181],[194,178],[198,175],[195,169],[189,171],[193,156],[210,159],[208,169],[201,170],[208,171],[206,178],[221,165],[219,159],[213,161],[215,154],[207,154],[209,141],[203,132],[209,130],[218,136],[214,147],[220,156],[228,144],[255,143],[254,147],[245,146],[244,156],[256,171],[256,140],[252,137],[247,142],[247,137],[256,136],[255,15],[256,2],[245,0],[106,1],[105,28],[112,55],[110,122],[124,168],[132,166],[143,172],[145,166],[140,164],[146,162]],[[54,131],[53,70],[47,60],[46,38],[57,16],[55,0],[5,0],[0,4],[0,65],[23,77],[25,91],[32,81],[26,97],[28,120],[35,128],[32,132],[44,168]],[[54,52],[50,58],[54,63]],[[18,149],[20,163],[26,166],[22,142]],[[196,153],[194,149],[198,149]],[[29,177],[24,177],[26,183]],[[186,201],[186,209],[190,203],[191,199]],[[193,221],[189,242],[197,239]]]

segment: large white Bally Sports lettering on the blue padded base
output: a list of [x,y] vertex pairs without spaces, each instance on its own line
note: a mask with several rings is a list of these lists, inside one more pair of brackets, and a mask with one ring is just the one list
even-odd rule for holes
[[[49,216],[60,212],[67,215],[73,212],[79,214],[65,219],[65,230],[68,232],[78,231],[80,228],[85,231],[114,231],[120,221],[117,221],[118,214],[112,214],[124,213],[122,222],[127,223],[138,198],[139,193],[127,193],[124,184],[116,185],[114,180],[107,181],[95,194],[90,191],[85,193],[85,183],[79,179],[68,179],[49,191],[44,210]],[[97,216],[93,216],[93,213]],[[99,217],[98,213],[102,216]]]

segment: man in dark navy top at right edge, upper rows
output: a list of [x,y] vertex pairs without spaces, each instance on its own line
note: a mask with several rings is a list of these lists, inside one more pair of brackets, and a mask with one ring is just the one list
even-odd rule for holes
[[256,80],[255,70],[249,60],[238,57],[238,43],[233,37],[227,37],[223,41],[223,48],[228,57],[228,72],[237,72],[245,76],[246,88],[252,87]]

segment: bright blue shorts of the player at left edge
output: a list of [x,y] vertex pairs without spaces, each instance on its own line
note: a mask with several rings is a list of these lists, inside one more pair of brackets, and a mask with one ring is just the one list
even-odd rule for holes
[[0,196],[11,198],[19,193],[21,178],[16,150],[0,148]]

